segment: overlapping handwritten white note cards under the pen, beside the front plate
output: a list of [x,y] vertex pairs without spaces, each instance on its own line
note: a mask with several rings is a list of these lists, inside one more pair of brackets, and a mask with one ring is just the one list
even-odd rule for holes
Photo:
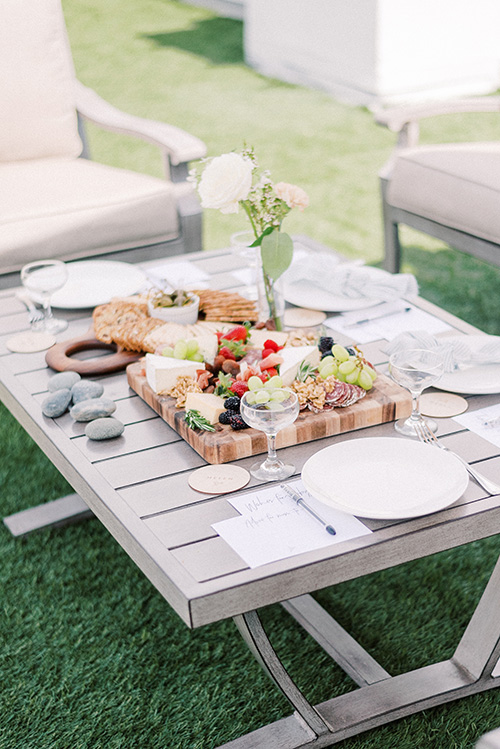
[[214,523],[212,528],[249,567],[259,567],[371,533],[353,515],[334,510],[311,497],[302,481],[291,482],[289,486],[298,491],[320,517],[333,525],[336,535],[327,533],[321,523],[279,487],[233,497],[229,501],[240,515]]

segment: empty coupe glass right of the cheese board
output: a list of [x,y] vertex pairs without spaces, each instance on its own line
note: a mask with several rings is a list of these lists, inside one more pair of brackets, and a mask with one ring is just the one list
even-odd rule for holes
[[[435,385],[444,371],[444,359],[438,351],[429,349],[407,349],[393,354],[389,359],[389,372],[398,385],[409,390],[412,398],[412,412],[407,419],[399,419],[394,424],[396,431],[407,437],[418,437],[416,425],[423,422],[420,413],[420,396],[425,388]],[[437,424],[426,419],[427,426],[437,432]]]

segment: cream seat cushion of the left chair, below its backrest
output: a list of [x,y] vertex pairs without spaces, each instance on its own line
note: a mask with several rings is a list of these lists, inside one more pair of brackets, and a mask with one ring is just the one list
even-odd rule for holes
[[175,238],[186,189],[86,159],[0,163],[0,267]]

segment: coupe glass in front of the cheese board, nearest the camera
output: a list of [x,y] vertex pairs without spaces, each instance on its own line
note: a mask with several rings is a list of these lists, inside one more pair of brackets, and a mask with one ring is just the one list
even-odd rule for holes
[[293,424],[299,414],[296,393],[284,388],[249,390],[241,398],[240,412],[249,426],[265,432],[267,436],[267,458],[263,463],[257,462],[250,467],[252,476],[261,481],[281,481],[291,476],[295,467],[278,459],[276,435]]

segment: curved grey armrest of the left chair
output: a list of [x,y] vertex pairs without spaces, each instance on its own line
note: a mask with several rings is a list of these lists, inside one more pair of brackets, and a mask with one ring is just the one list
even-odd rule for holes
[[159,146],[168,154],[174,166],[201,159],[207,152],[203,141],[185,130],[122,112],[79,81],[76,86],[76,108],[84,119],[105,130],[132,135]]

